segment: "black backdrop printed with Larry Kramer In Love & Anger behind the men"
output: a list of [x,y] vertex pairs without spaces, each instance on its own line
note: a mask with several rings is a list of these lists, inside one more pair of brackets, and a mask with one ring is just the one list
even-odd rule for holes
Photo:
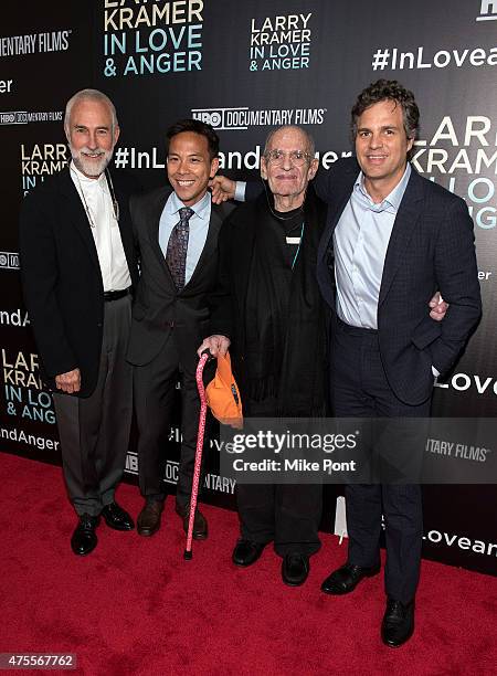
[[[39,0],[9,8],[0,28],[0,451],[60,464],[51,393],[22,302],[18,218],[23,197],[63,169],[63,110],[80,88],[115,102],[114,165],[146,188],[167,180],[165,130],[180,117],[210,123],[221,168],[256,176],[264,138],[282,124],[315,137],[320,171],[351,152],[349,110],[370,82],[413,89],[421,134],[413,166],[463,197],[475,222],[484,317],[453,373],[436,382],[433,414],[497,413],[497,0]],[[178,420],[178,416],[177,416]],[[430,453],[445,452],[432,440]],[[452,440],[457,442],[457,440]],[[208,441],[204,499],[234,507]],[[136,483],[136,439],[127,478]],[[173,490],[179,432],[165,480]],[[490,453],[495,453],[490,450]],[[488,453],[459,444],[470,468]],[[1,463],[1,458],[0,458]],[[0,465],[1,466],[1,465]],[[22,487],[20,487],[22,490]],[[61,479],[61,493],[63,490]],[[326,488],[325,530],[345,529],[340,489]],[[424,556],[497,574],[497,488],[425,486]]]

